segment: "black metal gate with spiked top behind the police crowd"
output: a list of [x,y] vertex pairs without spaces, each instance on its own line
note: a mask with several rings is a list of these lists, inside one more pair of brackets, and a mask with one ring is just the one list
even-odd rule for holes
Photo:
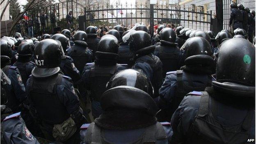
[[85,27],[89,25],[122,25],[128,29],[135,23],[146,25],[153,30],[155,24],[183,25],[193,29],[210,30],[212,11],[203,13],[203,9],[180,6],[178,4],[150,5],[145,3],[108,3],[94,5],[85,9]]

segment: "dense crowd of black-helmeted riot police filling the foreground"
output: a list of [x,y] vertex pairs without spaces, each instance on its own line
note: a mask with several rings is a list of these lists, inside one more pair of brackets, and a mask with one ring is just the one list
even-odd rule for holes
[[1,142],[255,143],[247,30],[169,26],[2,37]]

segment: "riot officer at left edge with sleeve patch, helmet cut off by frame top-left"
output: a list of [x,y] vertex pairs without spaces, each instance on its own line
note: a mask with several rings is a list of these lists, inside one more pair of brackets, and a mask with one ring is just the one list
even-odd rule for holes
[[11,80],[9,85],[10,94],[7,96],[7,106],[13,112],[21,111],[19,107],[26,99],[25,85],[22,82],[21,74],[16,66],[10,66],[11,48],[7,41],[1,40],[1,69]]

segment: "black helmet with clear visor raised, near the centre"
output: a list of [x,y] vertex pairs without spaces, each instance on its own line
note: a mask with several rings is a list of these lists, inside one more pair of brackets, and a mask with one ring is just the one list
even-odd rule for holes
[[131,52],[151,46],[151,37],[147,32],[138,30],[130,35],[129,47]]

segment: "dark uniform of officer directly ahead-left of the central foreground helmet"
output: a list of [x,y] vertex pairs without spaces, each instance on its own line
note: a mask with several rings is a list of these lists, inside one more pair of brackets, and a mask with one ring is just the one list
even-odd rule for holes
[[[107,69],[106,69],[107,68]],[[126,66],[116,64],[114,66],[97,66],[96,74],[91,74],[91,71],[95,69],[95,63],[88,63],[85,65],[85,69],[82,73],[82,82],[85,85],[85,89],[91,91],[91,97],[93,99],[91,103],[91,111],[94,118],[100,116],[103,112],[100,103],[100,97],[106,90],[106,84],[110,80],[111,76],[118,71],[126,69]],[[102,71],[101,71],[102,69]],[[104,71],[105,70],[105,71]],[[81,91],[81,95],[86,97],[86,91]]]

